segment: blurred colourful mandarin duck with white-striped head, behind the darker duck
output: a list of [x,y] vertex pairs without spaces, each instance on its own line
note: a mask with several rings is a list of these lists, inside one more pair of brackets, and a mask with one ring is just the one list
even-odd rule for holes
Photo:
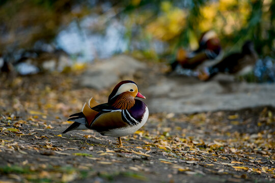
[[207,31],[202,34],[199,41],[199,48],[187,52],[183,48],[178,49],[176,60],[171,64],[172,70],[178,66],[184,69],[195,69],[205,60],[214,60],[221,53],[221,44],[214,31]]

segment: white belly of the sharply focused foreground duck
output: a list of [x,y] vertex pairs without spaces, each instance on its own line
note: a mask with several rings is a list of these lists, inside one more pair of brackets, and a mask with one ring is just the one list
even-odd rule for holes
[[105,132],[100,132],[104,136],[112,136],[112,137],[124,137],[130,134],[133,134],[137,130],[139,130],[147,121],[149,116],[149,110],[148,107],[146,107],[146,111],[143,115],[141,123],[134,125],[134,126],[128,126],[124,128],[119,128],[119,129],[113,129]]

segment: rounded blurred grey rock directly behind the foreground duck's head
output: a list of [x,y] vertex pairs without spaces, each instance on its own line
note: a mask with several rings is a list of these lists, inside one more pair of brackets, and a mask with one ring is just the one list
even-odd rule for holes
[[146,65],[127,56],[117,55],[91,64],[80,77],[80,85],[95,89],[103,89],[116,84],[122,76],[132,78],[137,70]]

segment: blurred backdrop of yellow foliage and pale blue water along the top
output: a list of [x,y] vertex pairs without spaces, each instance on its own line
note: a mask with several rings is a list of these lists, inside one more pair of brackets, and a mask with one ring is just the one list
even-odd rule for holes
[[253,41],[260,58],[254,80],[274,81],[274,10],[271,0],[3,0],[0,54],[13,63],[30,50],[62,50],[73,62],[129,53],[169,63],[179,47],[198,48],[201,34],[212,29],[225,55]]

